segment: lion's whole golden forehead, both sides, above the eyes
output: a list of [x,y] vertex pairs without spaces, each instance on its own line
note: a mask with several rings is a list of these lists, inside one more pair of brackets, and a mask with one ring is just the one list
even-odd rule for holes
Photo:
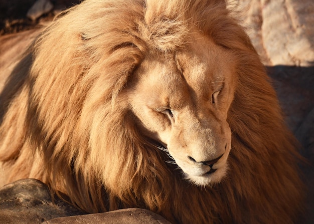
[[235,60],[205,37],[175,52],[151,52],[137,70],[141,99],[151,108],[199,106],[234,80]]

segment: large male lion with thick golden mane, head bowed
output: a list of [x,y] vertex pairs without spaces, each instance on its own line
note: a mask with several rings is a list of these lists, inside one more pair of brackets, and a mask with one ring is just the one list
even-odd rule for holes
[[297,143],[223,0],[86,0],[10,73],[4,183],[36,178],[89,213],[139,207],[172,223],[301,212]]

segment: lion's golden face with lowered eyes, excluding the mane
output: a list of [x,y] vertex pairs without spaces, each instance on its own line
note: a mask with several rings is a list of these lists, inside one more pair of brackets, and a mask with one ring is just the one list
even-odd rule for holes
[[143,135],[159,141],[197,185],[220,181],[227,170],[235,59],[198,36],[174,53],[151,52],[128,91]]

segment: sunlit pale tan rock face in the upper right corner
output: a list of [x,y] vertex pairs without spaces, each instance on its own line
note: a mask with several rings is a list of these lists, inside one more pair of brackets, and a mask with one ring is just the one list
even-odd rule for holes
[[262,7],[263,44],[272,65],[313,65],[314,2],[270,0]]

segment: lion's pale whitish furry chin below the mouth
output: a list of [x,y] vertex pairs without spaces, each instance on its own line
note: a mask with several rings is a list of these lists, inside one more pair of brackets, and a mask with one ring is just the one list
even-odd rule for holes
[[217,169],[214,173],[204,173],[203,175],[191,175],[184,172],[185,178],[198,186],[211,186],[219,183],[227,173],[227,166]]

